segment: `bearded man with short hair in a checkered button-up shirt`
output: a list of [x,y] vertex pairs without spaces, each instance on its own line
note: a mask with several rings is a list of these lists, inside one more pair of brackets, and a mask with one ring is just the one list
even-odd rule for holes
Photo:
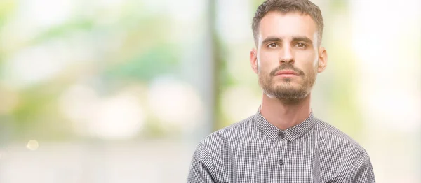
[[327,64],[323,17],[308,0],[267,0],[253,18],[250,64],[262,87],[255,115],[198,145],[188,182],[375,182],[359,144],[310,108]]

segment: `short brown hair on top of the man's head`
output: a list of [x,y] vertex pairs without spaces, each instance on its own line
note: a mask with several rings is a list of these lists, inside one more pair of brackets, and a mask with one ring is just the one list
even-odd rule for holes
[[256,10],[253,17],[252,29],[255,44],[258,45],[259,24],[265,15],[271,11],[279,11],[281,13],[290,13],[298,11],[305,15],[312,17],[316,22],[317,30],[319,31],[319,44],[321,44],[321,37],[323,34],[323,17],[319,6],[316,6],[309,0],[266,0]]

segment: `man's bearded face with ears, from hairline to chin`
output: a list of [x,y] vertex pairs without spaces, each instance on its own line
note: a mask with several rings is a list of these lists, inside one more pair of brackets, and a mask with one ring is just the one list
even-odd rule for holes
[[317,25],[309,15],[269,12],[260,21],[257,50],[250,61],[269,97],[298,101],[309,94],[326,66]]

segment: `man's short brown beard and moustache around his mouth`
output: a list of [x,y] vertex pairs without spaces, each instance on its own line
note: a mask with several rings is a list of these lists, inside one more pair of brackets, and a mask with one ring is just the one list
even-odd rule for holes
[[[311,92],[314,82],[316,82],[316,68],[307,74],[295,68],[292,64],[281,64],[269,74],[261,72],[260,68],[258,69],[259,85],[263,92],[271,98],[278,98],[288,103],[296,103],[305,98]],[[276,81],[274,81],[275,73],[285,69],[298,73],[301,80],[298,80],[299,78],[282,78],[281,81],[277,81],[281,83],[276,85]],[[297,83],[293,83],[294,80],[297,80]],[[298,84],[298,86],[294,84]]]

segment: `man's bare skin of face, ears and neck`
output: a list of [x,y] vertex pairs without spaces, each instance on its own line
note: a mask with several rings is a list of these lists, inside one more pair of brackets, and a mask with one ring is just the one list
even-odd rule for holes
[[[260,21],[256,43],[250,64],[263,90],[262,116],[281,130],[300,124],[309,117],[316,75],[328,61],[316,22],[298,12],[269,12]],[[296,75],[276,75],[278,71]]]

